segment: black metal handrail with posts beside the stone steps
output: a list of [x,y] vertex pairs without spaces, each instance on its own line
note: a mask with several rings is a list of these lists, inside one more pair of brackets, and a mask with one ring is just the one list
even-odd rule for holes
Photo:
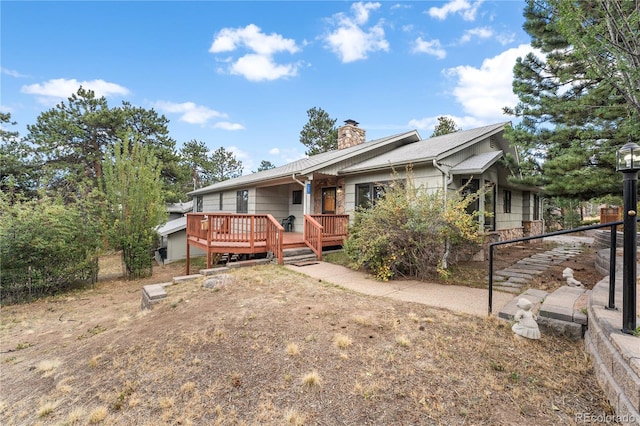
[[[640,220],[640,219],[639,219]],[[592,229],[610,228],[611,247],[609,252],[609,302],[607,309],[615,309],[615,289],[616,289],[616,228],[622,225],[622,220],[617,222],[602,223],[598,225],[581,226],[579,228],[566,229],[562,231],[549,232],[547,234],[533,235],[531,237],[515,238],[513,240],[497,241],[489,244],[489,315],[493,311],[493,248],[504,244],[521,243],[524,241],[536,240],[539,238],[554,237],[556,235],[575,234]]]

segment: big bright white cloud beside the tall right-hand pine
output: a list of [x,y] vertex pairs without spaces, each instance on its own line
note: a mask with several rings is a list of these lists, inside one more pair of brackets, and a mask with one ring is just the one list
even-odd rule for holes
[[465,113],[485,123],[505,120],[502,108],[518,102],[511,87],[516,59],[531,51],[530,45],[523,44],[485,59],[480,68],[466,65],[445,70],[456,80],[452,93]]

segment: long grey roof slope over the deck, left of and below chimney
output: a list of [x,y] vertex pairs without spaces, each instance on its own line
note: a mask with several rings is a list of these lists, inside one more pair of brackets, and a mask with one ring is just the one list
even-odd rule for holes
[[217,192],[230,188],[246,187],[252,184],[264,183],[265,181],[277,181],[283,178],[291,178],[292,175],[306,175],[315,171],[330,167],[342,161],[357,158],[375,149],[388,147],[393,149],[404,144],[413,144],[420,140],[420,135],[416,130],[376,139],[365,142],[349,148],[338,149],[321,154],[312,155],[310,157],[301,158],[284,166],[276,167],[270,170],[264,170],[249,175],[229,179],[223,182],[215,183],[204,188],[196,189],[189,192],[188,195],[200,195],[210,192]]

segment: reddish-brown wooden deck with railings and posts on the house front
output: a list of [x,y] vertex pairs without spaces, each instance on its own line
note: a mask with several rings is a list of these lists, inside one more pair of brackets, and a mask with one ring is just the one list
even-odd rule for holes
[[311,248],[321,260],[323,247],[342,245],[348,224],[348,215],[305,215],[304,232],[284,232],[269,214],[188,213],[187,273],[191,246],[207,253],[207,268],[212,255],[227,253],[272,253],[282,264],[284,249],[301,247]]

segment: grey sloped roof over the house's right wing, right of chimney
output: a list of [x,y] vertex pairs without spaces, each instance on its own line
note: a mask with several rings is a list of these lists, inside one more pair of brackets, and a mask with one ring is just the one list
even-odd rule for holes
[[363,161],[354,166],[347,167],[342,173],[354,173],[407,164],[418,164],[440,160],[443,157],[454,154],[479,140],[501,132],[509,122],[492,124],[476,129],[464,130],[424,139],[410,145],[397,148],[383,156]]

